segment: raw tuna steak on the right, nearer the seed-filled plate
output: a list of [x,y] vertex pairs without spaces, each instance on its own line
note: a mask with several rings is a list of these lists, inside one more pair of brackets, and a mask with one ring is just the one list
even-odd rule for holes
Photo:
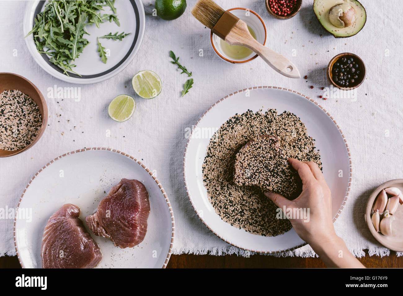
[[150,201],[143,183],[122,179],[85,221],[95,235],[110,238],[120,248],[131,248],[143,241],[149,214]]

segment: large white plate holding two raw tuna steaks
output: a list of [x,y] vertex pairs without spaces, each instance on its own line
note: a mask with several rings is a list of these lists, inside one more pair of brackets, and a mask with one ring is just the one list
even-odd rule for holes
[[97,267],[166,267],[174,238],[174,216],[168,196],[140,161],[110,148],[86,148],[63,154],[29,181],[17,213],[32,209],[32,221],[27,221],[27,217],[17,219],[17,214],[14,222],[15,248],[21,266],[42,267],[42,235],[49,217],[57,209],[66,203],[77,205],[84,220],[122,178],[137,179],[147,188],[151,206],[147,234],[138,246],[121,249],[87,228],[103,254]]

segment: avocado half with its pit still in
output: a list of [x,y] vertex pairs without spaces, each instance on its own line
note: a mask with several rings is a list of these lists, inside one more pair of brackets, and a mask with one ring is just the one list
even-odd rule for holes
[[[351,24],[345,23],[346,27],[336,27],[330,21],[330,12],[334,12],[332,8],[343,7],[345,4],[349,4],[354,8],[355,14],[353,16],[353,21]],[[314,12],[322,27],[336,38],[354,36],[361,31],[367,21],[365,8],[357,0],[315,0]],[[334,22],[334,15],[332,17],[332,21]],[[343,22],[341,22],[341,24],[343,24]]]

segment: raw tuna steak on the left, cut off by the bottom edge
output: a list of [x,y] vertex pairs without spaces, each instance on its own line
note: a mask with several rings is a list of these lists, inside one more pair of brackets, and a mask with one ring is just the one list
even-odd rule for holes
[[101,250],[79,215],[80,208],[68,203],[49,218],[42,237],[43,268],[92,268],[101,261]]

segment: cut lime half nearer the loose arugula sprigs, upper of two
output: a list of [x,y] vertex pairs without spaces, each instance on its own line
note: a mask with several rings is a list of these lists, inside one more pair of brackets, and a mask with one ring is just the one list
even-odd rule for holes
[[162,89],[161,79],[150,70],[138,72],[131,80],[134,91],[144,99],[152,99],[160,94]]

